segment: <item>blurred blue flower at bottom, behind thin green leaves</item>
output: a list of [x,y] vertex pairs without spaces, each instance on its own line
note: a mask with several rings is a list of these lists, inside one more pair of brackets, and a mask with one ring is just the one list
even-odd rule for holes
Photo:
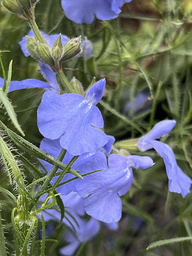
[[[44,201],[45,198],[46,195],[43,195],[40,200]],[[94,218],[90,218],[89,221],[81,218],[85,213],[83,207],[84,198],[81,198],[76,192],[65,196],[61,195],[61,200],[65,206],[65,218],[62,222],[67,226],[64,233],[64,241],[69,244],[62,247],[60,253],[62,255],[73,255],[81,243],[86,239],[92,239],[99,232],[100,223]],[[59,222],[61,219],[60,212],[55,209],[46,209],[42,211],[42,214],[45,221]]]

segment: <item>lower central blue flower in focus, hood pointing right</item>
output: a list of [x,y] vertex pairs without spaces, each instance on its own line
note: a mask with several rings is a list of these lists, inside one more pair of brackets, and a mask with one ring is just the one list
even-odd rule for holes
[[[138,156],[133,156],[132,163],[129,166],[138,166],[145,168],[145,162],[148,167],[148,159],[143,164]],[[126,157],[117,154],[111,154],[108,157],[108,164],[105,154],[97,152],[90,161],[83,166],[80,173],[84,174],[97,169],[105,169],[84,177],[84,180],[76,180],[76,190],[78,194],[86,198],[84,208],[87,214],[99,221],[113,223],[119,221],[122,214],[122,203],[119,196],[125,195],[132,183],[133,172],[131,167],[128,167],[129,160]],[[136,162],[136,163],[135,163]],[[151,160],[151,165],[153,161]],[[108,167],[109,166],[109,167]]]

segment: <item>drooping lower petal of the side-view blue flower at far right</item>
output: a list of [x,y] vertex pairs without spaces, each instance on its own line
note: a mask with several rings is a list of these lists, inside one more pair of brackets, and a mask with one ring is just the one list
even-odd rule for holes
[[167,176],[169,178],[169,190],[181,194],[183,198],[190,192],[192,180],[187,177],[177,166],[174,153],[169,145],[160,141],[149,141],[152,147],[163,157]]

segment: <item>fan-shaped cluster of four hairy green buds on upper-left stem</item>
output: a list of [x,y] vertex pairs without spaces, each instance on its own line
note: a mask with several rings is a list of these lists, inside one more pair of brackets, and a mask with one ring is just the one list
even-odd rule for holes
[[41,43],[35,37],[26,36],[26,46],[32,58],[54,67],[55,61],[59,63],[67,61],[81,51],[81,36],[70,39],[63,46],[60,34],[52,47]]

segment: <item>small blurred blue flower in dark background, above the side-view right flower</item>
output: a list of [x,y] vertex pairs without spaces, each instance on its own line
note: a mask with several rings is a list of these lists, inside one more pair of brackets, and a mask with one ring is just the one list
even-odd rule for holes
[[126,103],[123,108],[122,113],[126,116],[133,116],[134,113],[145,110],[151,105],[151,102],[148,100],[150,93],[146,90],[143,90],[140,93],[137,93],[133,101],[130,100]]

